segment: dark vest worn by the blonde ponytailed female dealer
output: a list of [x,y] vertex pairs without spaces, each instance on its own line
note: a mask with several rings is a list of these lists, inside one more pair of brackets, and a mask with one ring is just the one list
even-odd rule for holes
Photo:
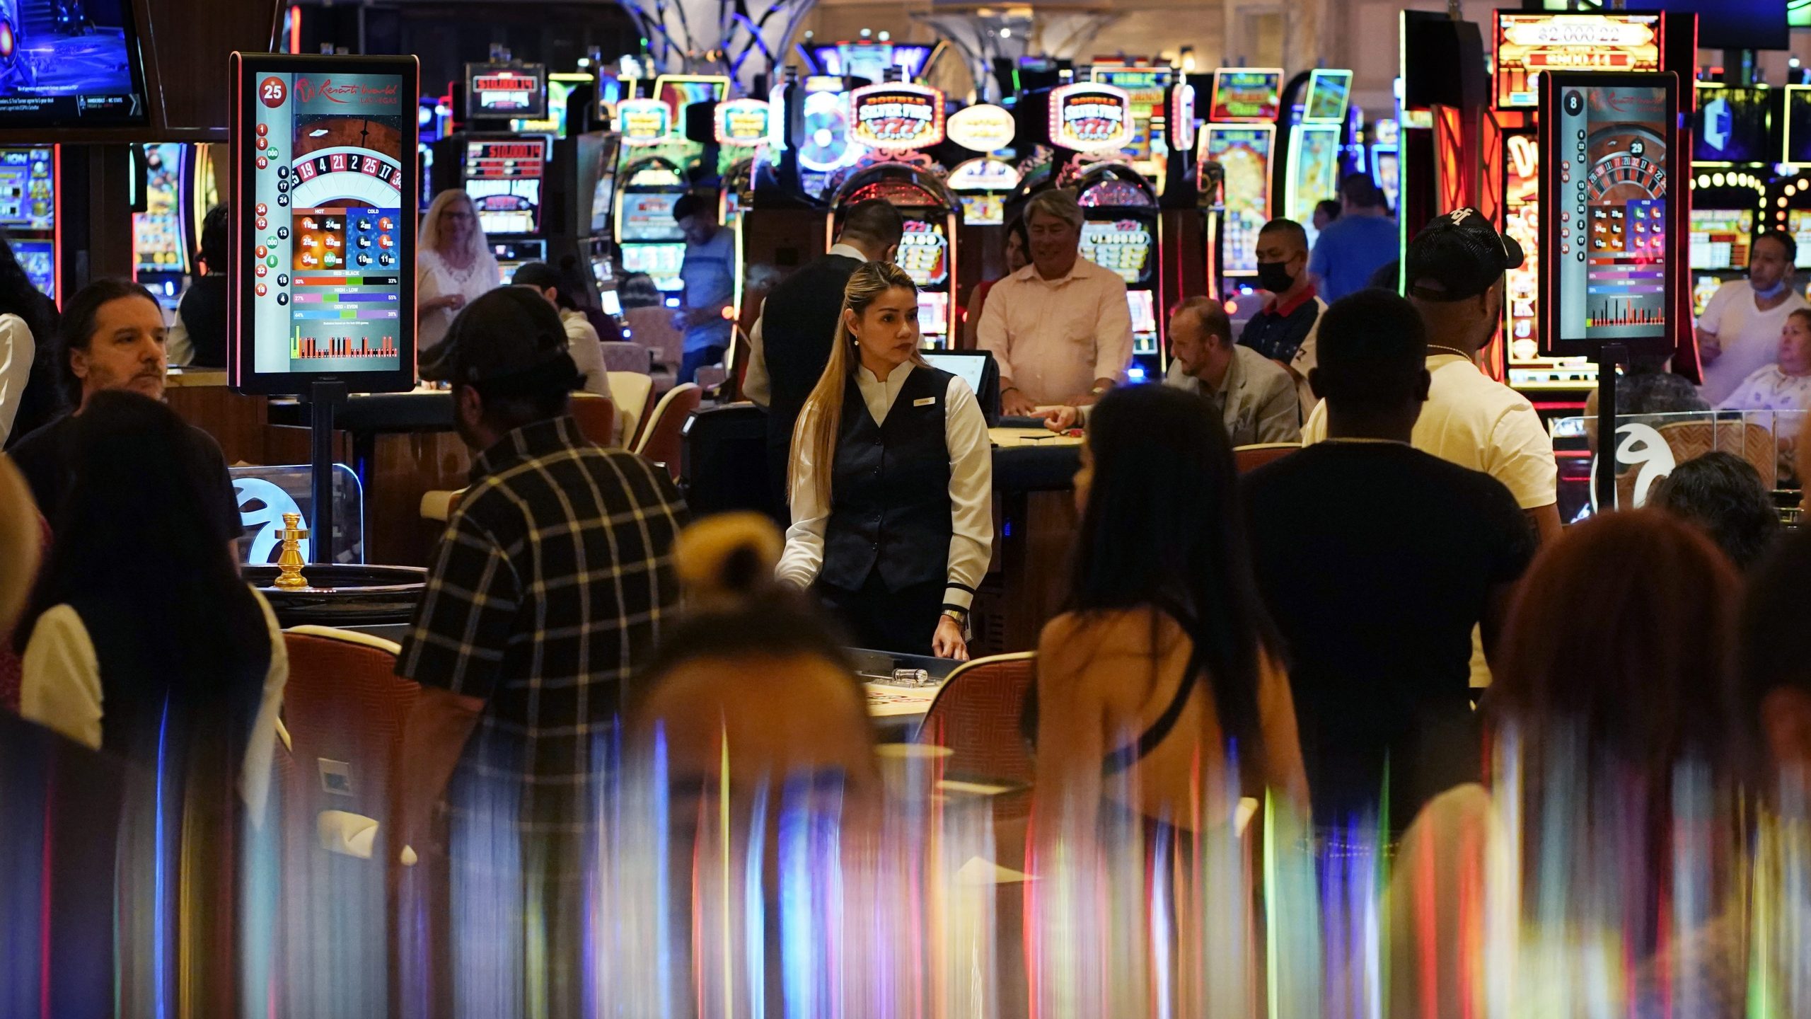
[[949,372],[913,368],[886,424],[875,424],[855,379],[844,386],[824,533],[826,584],[855,591],[877,569],[887,591],[949,578]]

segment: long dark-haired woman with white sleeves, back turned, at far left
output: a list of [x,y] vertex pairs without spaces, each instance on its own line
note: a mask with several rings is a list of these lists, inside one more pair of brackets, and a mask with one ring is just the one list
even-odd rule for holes
[[241,943],[257,910],[239,878],[255,867],[243,836],[266,820],[288,655],[188,470],[187,433],[139,393],[85,403],[58,506],[65,540],[14,635],[20,713],[136,765],[121,789],[116,872],[94,876],[118,888],[121,1015],[170,995],[196,1014],[239,1014],[241,948],[270,937],[248,930]]

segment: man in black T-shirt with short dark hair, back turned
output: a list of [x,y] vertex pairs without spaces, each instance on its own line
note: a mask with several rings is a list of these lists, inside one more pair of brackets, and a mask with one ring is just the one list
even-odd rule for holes
[[1500,482],[1411,444],[1431,375],[1407,301],[1360,290],[1318,339],[1326,439],[1246,475],[1253,566],[1289,651],[1315,820],[1387,807],[1400,830],[1478,778],[1471,635],[1492,647],[1534,539]]

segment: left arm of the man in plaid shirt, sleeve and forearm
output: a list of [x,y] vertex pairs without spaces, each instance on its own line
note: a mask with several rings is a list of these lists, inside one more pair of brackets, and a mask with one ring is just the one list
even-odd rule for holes
[[496,689],[522,584],[502,544],[471,513],[447,524],[404,638],[397,674],[422,684],[402,725],[402,845],[426,843],[429,818]]

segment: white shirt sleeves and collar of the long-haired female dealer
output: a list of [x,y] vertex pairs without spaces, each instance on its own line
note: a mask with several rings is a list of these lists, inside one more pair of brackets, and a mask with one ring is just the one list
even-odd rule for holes
[[[867,368],[855,370],[855,384],[877,424],[884,424],[893,401],[898,399],[913,363],[906,361],[886,379],[877,379]],[[994,549],[994,450],[987,439],[987,421],[974,399],[974,390],[960,375],[949,379],[944,392],[944,444],[949,448],[949,586],[944,604],[967,609],[974,602],[974,587],[987,575]],[[811,451],[799,451],[799,470],[791,484],[793,526],[786,529],[786,551],[775,577],[797,587],[810,587],[824,569],[824,531],[829,528],[829,506],[817,500],[817,464]],[[831,499],[837,493],[831,491]]]

